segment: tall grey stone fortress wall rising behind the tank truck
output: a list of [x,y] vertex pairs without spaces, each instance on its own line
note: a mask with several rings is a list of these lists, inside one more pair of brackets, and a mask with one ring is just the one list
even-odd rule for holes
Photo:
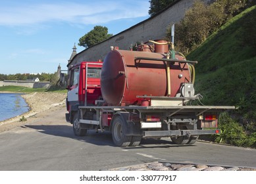
[[[170,26],[170,23],[178,22],[182,19],[185,11],[193,5],[194,1],[195,0],[177,1],[171,7],[165,9],[165,11],[140,22],[119,34],[113,35],[113,37],[98,43],[97,45],[85,49],[72,58],[68,67],[84,60],[103,60],[107,53],[109,53],[111,46],[127,50],[131,45],[135,45],[137,42],[165,38],[166,29]],[[212,0],[203,1],[209,3]]]

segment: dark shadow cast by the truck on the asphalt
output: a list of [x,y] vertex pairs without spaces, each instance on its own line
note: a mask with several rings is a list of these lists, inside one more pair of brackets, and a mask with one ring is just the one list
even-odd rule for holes
[[[36,129],[40,133],[45,133],[47,135],[54,135],[59,137],[67,137],[70,139],[75,139],[78,141],[90,143],[93,145],[107,145],[111,147],[116,147],[113,143],[111,132],[104,131],[96,132],[95,130],[88,130],[88,133],[84,137],[78,137],[74,135],[72,126],[64,125],[26,125],[22,126],[23,128],[32,128]],[[125,149],[149,149],[149,148],[169,148],[169,147],[191,147],[194,145],[176,145],[172,141],[165,139],[142,139],[140,146],[138,147],[126,147]]]

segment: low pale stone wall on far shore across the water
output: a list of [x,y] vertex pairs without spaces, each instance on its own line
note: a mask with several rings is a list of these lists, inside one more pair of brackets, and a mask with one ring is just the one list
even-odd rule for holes
[[23,87],[31,87],[31,88],[49,88],[50,82],[49,81],[18,81],[18,80],[5,80],[0,81],[0,86],[6,85],[14,85],[14,86],[23,86]]

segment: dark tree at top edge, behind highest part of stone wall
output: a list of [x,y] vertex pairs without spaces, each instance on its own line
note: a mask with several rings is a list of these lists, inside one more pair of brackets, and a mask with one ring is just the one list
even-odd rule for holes
[[149,14],[153,16],[176,0],[150,0]]

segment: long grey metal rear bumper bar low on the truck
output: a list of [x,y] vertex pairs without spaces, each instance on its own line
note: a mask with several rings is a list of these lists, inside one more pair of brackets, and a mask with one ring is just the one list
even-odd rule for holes
[[188,136],[190,135],[209,135],[209,134],[216,134],[217,129],[211,130],[171,130],[171,131],[143,131],[143,137],[172,137],[172,136]]

